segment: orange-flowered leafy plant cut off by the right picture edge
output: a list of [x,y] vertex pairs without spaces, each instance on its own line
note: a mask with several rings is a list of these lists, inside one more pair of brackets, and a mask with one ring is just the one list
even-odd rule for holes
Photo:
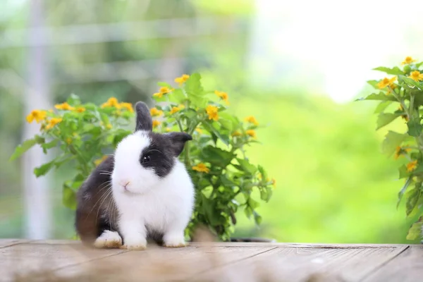
[[420,215],[407,234],[407,240],[415,240],[422,235],[423,226],[423,62],[417,63],[408,56],[401,65],[402,68],[374,68],[391,77],[368,81],[376,91],[358,100],[380,101],[375,110],[379,115],[376,130],[397,118],[405,124],[404,132],[388,131],[382,149],[395,159],[406,160],[398,168],[399,178],[405,179],[405,184],[398,192],[397,208],[404,198],[407,217]]

